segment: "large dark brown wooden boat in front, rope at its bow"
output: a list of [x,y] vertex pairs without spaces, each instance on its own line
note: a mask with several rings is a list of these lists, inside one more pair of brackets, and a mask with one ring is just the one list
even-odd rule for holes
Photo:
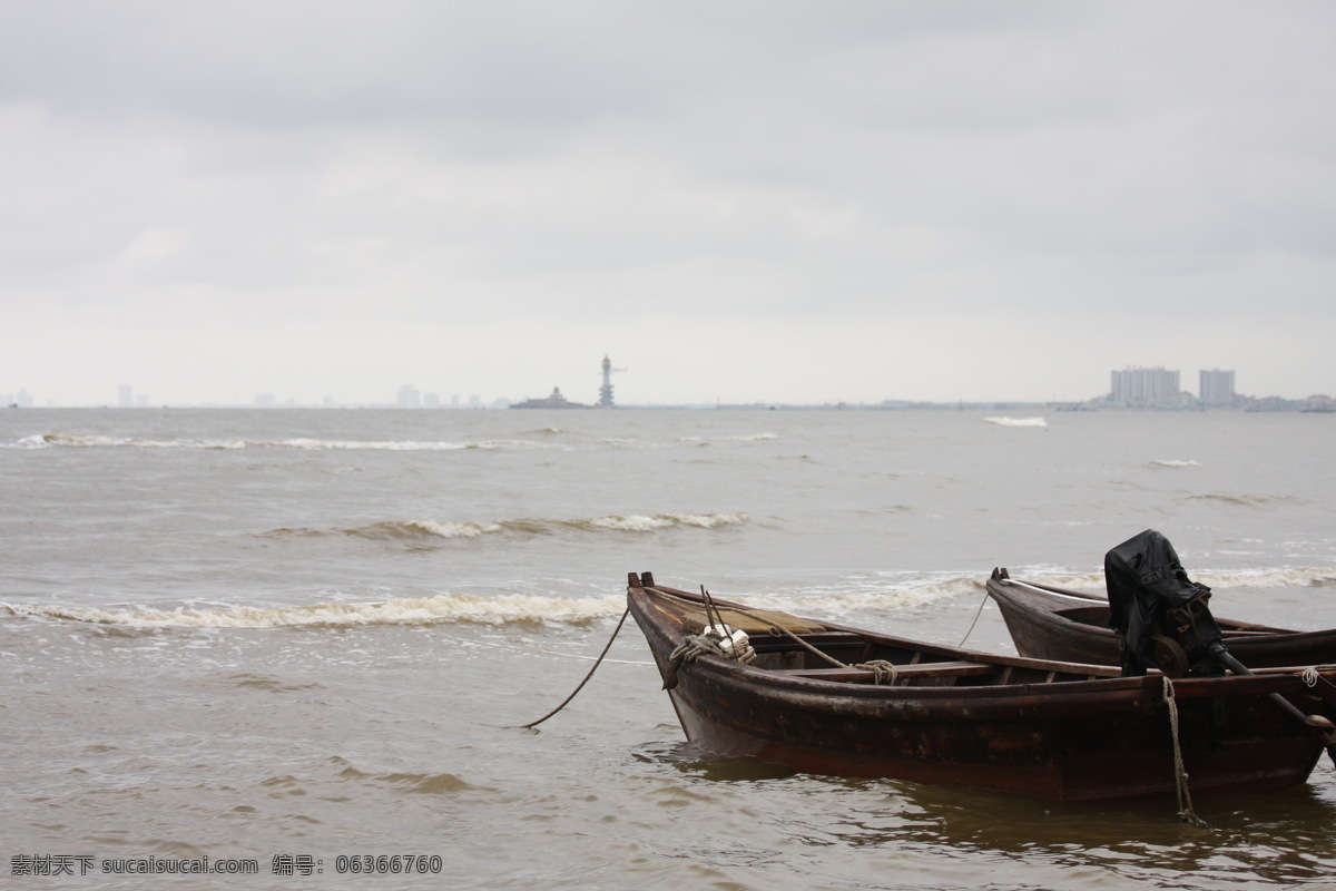
[[[1058,800],[1181,793],[1181,780],[1193,793],[1268,791],[1304,783],[1329,743],[1268,693],[1336,717],[1336,669],[1312,688],[1293,671],[1174,680],[1170,704],[1158,673],[916,643],[664,588],[649,573],[629,574],[627,598],[688,740],[812,773]],[[751,664],[704,635],[711,624],[745,632]]]

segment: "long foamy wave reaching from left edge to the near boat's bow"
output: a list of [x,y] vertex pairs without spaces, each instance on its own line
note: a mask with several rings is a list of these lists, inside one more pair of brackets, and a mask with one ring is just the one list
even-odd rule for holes
[[436,594],[432,597],[397,597],[375,604],[321,602],[301,606],[220,606],[176,609],[60,606],[47,604],[9,604],[20,616],[40,616],[98,625],[138,628],[294,628],[358,625],[437,625],[474,622],[506,625],[512,622],[584,624],[619,616],[625,600],[616,597],[540,597],[508,594],[477,597],[472,594]]

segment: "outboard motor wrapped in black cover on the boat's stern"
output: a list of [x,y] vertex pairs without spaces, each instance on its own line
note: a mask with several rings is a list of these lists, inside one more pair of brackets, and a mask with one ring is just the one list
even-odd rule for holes
[[1104,578],[1125,677],[1148,668],[1169,677],[1222,675],[1237,664],[1206,605],[1210,588],[1188,578],[1173,545],[1154,529],[1106,553]]

